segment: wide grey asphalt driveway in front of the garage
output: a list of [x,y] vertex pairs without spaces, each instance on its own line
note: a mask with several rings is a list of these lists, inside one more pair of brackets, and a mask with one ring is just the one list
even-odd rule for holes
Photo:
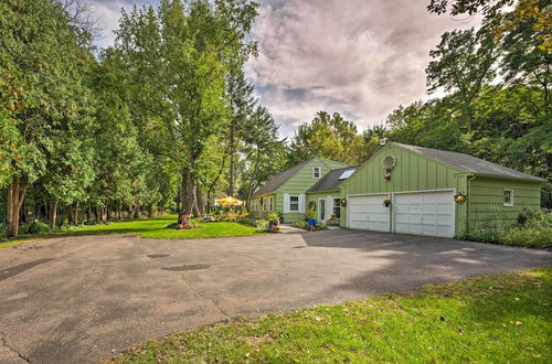
[[241,315],[551,264],[542,250],[354,231],[28,243],[0,249],[0,362],[94,362]]

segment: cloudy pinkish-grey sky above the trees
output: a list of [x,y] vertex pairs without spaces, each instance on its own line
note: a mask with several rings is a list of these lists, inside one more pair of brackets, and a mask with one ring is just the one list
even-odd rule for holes
[[[437,17],[429,0],[261,0],[253,36],[259,55],[246,72],[280,131],[338,111],[360,130],[382,124],[399,105],[427,99],[425,67],[440,34],[476,20]],[[156,0],[92,0],[104,28],[98,46],[113,44],[120,9]]]

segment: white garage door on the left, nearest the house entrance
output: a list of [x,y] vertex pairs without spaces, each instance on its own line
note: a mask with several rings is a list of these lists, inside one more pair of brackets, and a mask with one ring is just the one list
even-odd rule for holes
[[388,194],[349,197],[349,227],[368,231],[390,231],[390,208],[383,206]]

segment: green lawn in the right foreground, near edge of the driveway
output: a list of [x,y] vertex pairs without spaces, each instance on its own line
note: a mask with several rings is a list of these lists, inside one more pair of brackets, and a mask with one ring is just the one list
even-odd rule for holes
[[552,363],[552,269],[201,328],[115,362]]

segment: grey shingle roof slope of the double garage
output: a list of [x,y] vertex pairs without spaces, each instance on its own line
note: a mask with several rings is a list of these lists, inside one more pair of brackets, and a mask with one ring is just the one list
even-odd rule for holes
[[527,173],[512,170],[511,168],[488,162],[486,160],[476,158],[474,156],[452,152],[446,150],[425,148],[425,147],[408,146],[400,142],[392,142],[392,143],[402,147],[404,149],[412,150],[416,153],[445,162],[449,165],[457,167],[474,174],[542,181],[541,179],[534,175],[530,175]]

